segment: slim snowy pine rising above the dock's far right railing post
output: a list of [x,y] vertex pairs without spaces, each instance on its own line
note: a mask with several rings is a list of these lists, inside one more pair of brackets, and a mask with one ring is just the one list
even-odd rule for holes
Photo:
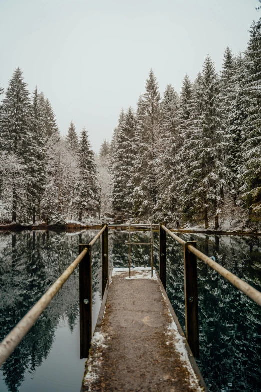
[[180,174],[178,129],[179,98],[174,88],[167,85],[161,102],[160,143],[157,164],[158,200],[155,217],[160,221],[177,222],[179,226],[179,197],[177,192]]

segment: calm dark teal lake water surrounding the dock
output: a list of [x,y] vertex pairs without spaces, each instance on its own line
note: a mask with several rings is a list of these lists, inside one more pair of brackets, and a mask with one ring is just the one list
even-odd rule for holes
[[[0,232],[0,340],[76,258],[78,244],[98,231]],[[133,234],[146,242],[150,233]],[[253,237],[181,235],[261,290],[261,241]],[[111,266],[127,267],[126,232],[110,232]],[[260,241],[260,247],[259,247]],[[158,234],[155,233],[158,247]],[[158,251],[155,249],[158,267]],[[101,304],[100,241],[92,250],[93,327]],[[149,247],[133,246],[132,265],[149,266]],[[211,392],[261,391],[261,308],[198,261],[200,359]],[[184,329],[182,246],[167,236],[167,293]],[[184,330],[185,331],[185,330]],[[0,392],[80,391],[78,269],[0,369]]]

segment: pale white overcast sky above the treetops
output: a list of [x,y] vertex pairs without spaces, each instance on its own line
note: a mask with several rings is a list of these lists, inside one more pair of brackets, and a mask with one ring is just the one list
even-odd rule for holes
[[209,52],[244,51],[258,0],[0,0],[0,85],[20,67],[49,98],[61,133],[73,119],[96,152],[120,109],[136,107],[150,68],[161,93],[193,81]]

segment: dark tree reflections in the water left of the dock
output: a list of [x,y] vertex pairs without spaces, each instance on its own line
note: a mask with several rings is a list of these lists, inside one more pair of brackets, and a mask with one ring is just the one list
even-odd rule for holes
[[[0,340],[40,299],[78,255],[79,242],[88,243],[96,231],[79,233],[0,233]],[[99,290],[100,242],[92,251],[93,293]],[[28,369],[33,372],[46,359],[55,328],[66,319],[71,331],[78,318],[78,269],[67,280],[30,332],[2,366],[9,391],[19,390]]]

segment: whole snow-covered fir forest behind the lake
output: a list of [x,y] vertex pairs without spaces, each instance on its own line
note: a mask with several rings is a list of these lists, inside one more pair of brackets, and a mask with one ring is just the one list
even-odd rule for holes
[[153,218],[226,230],[258,230],[261,27],[244,53],[228,47],[217,73],[210,55],[194,81],[160,97],[151,69],[137,107],[120,112],[98,156],[71,121],[60,135],[51,103],[17,68],[0,107],[2,223]]

